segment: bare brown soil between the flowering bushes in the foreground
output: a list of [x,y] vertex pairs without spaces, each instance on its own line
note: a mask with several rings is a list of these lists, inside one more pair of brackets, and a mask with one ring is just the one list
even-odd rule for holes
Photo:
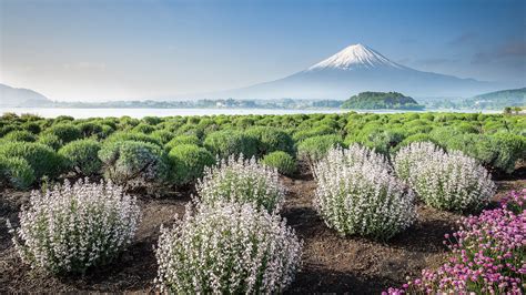
[[[496,177],[498,193],[526,187],[526,169]],[[315,182],[308,173],[283,177],[287,197],[282,215],[304,240],[303,269],[287,293],[378,294],[398,286],[406,276],[441,264],[446,248],[442,241],[459,215],[418,206],[418,221],[387,243],[343,237],[327,228],[312,205]],[[142,222],[130,248],[112,264],[84,276],[54,278],[21,263],[4,220],[18,225],[20,206],[29,193],[0,191],[0,293],[154,292],[156,264],[153,246],[161,224],[170,225],[184,212],[192,189],[162,199],[140,199]]]

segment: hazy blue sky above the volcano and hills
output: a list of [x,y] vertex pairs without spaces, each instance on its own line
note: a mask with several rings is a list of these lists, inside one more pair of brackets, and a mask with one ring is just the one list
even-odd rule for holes
[[0,83],[54,100],[245,87],[353,43],[418,70],[526,84],[526,1],[0,0]]

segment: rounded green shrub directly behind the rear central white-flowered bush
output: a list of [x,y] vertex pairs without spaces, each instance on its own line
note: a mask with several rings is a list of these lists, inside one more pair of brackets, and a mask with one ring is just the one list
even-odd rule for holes
[[204,146],[212,154],[221,157],[243,154],[252,157],[257,154],[257,139],[241,131],[225,130],[210,133],[204,140]]

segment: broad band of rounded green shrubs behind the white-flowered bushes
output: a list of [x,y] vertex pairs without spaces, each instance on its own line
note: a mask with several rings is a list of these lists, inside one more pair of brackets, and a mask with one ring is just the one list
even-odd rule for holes
[[[516,163],[526,157],[525,135],[524,116],[476,113],[352,112],[146,116],[142,120],[129,116],[42,119],[7,113],[0,116],[0,175],[3,182],[24,187],[44,175],[55,177],[63,172],[104,173],[110,179],[119,179],[122,175],[114,177],[118,172],[136,174],[144,170],[170,175],[158,177],[155,174],[158,182],[170,179],[181,184],[199,177],[201,163],[209,165],[216,155],[267,156],[269,165],[292,174],[296,159],[312,163],[334,145],[360,143],[392,155],[402,146],[421,141],[459,150],[488,169],[510,173]],[[153,155],[161,159],[160,163],[166,162],[163,164],[166,167],[138,162]],[[146,179],[138,182],[149,182]]]

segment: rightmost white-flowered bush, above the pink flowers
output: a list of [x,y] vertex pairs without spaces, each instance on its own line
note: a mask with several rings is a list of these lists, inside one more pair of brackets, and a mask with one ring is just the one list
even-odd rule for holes
[[415,142],[393,160],[396,174],[424,201],[441,210],[473,211],[495,193],[489,173],[475,159],[444,150],[429,142]]

